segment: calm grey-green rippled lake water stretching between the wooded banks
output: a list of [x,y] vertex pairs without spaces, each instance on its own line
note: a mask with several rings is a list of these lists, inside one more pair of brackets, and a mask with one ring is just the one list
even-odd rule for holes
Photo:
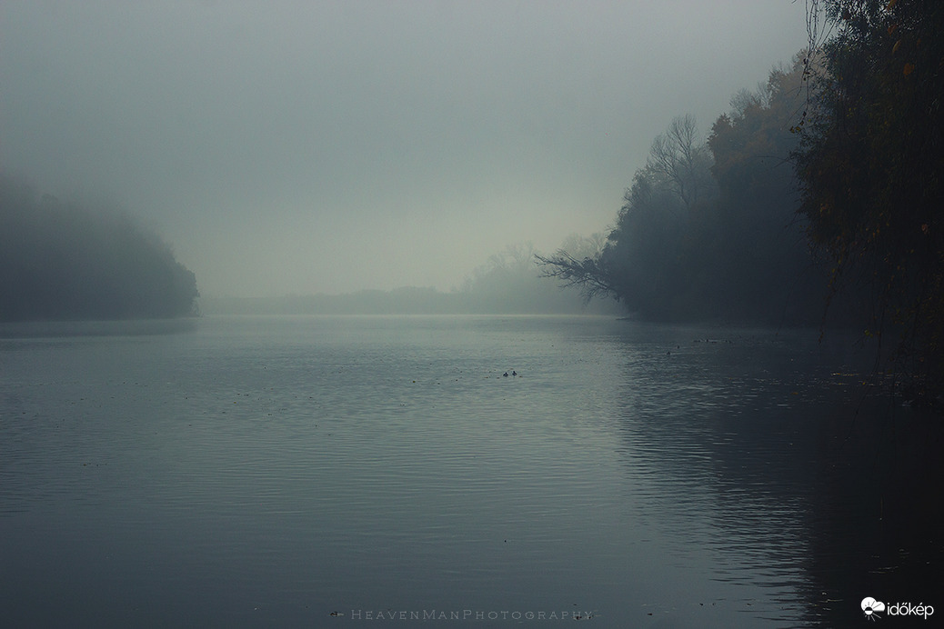
[[816,331],[0,332],[3,626],[842,627],[865,596],[944,614],[939,431]]

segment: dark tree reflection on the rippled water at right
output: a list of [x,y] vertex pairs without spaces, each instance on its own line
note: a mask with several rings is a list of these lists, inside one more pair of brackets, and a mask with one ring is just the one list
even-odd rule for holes
[[871,592],[940,596],[939,418],[870,392],[849,346],[729,333],[627,350],[626,451],[666,499],[653,517],[708,514],[713,578],[770,588],[772,621],[849,626]]

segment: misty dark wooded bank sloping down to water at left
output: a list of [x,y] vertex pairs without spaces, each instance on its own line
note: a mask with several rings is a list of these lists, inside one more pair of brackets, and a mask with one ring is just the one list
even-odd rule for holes
[[197,294],[194,273],[126,214],[0,175],[0,321],[180,317]]

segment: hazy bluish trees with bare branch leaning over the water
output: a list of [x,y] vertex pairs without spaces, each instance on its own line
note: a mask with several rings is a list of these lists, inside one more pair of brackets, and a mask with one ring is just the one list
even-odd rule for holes
[[708,141],[690,116],[652,143],[602,251],[541,257],[545,274],[664,321],[813,323],[825,283],[796,220],[788,162],[802,58],[742,91]]

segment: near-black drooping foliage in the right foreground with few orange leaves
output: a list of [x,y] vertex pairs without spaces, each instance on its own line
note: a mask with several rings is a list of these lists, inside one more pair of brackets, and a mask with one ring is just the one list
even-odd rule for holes
[[[825,9],[823,13],[818,12]],[[833,285],[869,291],[869,333],[898,337],[892,372],[916,394],[944,382],[944,3],[814,2],[819,48],[803,143],[801,212]]]

